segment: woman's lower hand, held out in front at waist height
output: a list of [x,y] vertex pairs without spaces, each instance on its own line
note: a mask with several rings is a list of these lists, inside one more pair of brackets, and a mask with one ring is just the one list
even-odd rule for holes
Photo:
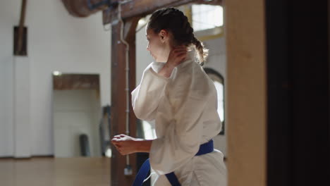
[[136,142],[139,140],[128,135],[116,135],[111,140],[111,143],[114,144],[121,155],[127,155],[138,151],[138,143]]

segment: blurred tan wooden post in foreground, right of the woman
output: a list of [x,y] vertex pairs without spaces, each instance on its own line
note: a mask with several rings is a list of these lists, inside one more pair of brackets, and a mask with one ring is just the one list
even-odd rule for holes
[[228,186],[267,180],[264,1],[226,1]]

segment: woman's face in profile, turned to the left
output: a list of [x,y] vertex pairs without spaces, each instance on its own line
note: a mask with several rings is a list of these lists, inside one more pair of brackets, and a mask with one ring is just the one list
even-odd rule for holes
[[166,62],[169,54],[166,53],[166,43],[161,42],[161,35],[154,33],[152,29],[146,30],[147,51],[157,62]]

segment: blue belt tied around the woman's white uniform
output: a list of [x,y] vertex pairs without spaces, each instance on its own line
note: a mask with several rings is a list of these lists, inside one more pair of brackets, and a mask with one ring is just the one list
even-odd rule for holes
[[[200,145],[200,150],[197,152],[195,156],[207,154],[212,152],[213,150],[214,150],[213,140],[210,140],[209,142]],[[138,174],[136,175],[135,180],[133,182],[133,186],[142,186],[143,180],[147,178],[147,174],[149,170],[150,170],[150,162],[149,159],[147,159],[145,163],[142,164]],[[171,185],[181,186],[174,172],[166,174],[166,178],[169,180],[169,182],[171,182]]]

